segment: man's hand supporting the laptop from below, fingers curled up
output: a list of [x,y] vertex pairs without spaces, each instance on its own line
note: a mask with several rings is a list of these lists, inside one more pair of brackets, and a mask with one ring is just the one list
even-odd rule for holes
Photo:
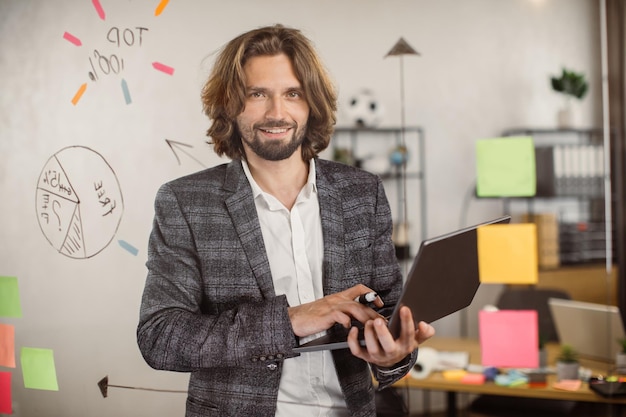
[[390,367],[435,334],[435,329],[423,321],[416,329],[411,310],[406,306],[400,309],[400,321],[400,337],[396,340],[389,332],[384,319],[379,317],[365,322],[365,346],[359,344],[358,329],[350,329],[348,335],[350,351],[366,362]]

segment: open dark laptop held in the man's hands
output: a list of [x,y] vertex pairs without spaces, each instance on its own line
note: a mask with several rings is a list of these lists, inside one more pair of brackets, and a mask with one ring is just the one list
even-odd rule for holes
[[[399,302],[393,306],[393,312],[388,317],[391,334],[395,338],[400,336],[399,314],[402,306],[411,308],[417,324],[420,321],[432,323],[470,305],[480,286],[476,229],[510,221],[510,216],[503,216],[424,240],[413,260]],[[385,301],[384,295],[381,294],[381,297]],[[379,312],[383,314],[382,310]],[[349,330],[336,324],[324,336],[303,343],[294,350],[311,352],[347,348]],[[362,333],[359,338],[362,338]],[[365,345],[364,340],[361,340],[361,345]]]

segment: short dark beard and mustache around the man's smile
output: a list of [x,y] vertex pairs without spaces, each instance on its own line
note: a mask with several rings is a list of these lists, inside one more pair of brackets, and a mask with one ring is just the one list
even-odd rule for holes
[[[259,128],[269,129],[273,127],[289,127],[292,129],[293,134],[288,142],[280,140],[261,140],[259,137]],[[265,122],[255,123],[252,128],[242,127],[237,124],[241,140],[252,151],[267,161],[282,161],[289,158],[293,153],[302,145],[306,134],[306,125],[299,127],[296,123],[285,122]]]

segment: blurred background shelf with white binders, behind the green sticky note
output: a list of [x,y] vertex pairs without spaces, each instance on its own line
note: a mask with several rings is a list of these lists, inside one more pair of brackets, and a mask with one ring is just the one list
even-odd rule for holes
[[[537,194],[503,201],[505,212],[537,224],[540,266],[578,266],[607,258],[603,132],[524,127],[503,132],[505,137],[532,136],[535,144]],[[615,249],[610,257],[615,259]]]

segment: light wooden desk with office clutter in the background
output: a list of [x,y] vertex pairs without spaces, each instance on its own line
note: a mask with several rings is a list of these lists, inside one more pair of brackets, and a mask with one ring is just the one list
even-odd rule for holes
[[[428,340],[423,346],[429,346],[439,351],[464,351],[470,354],[470,363],[480,364],[480,344],[477,340],[444,338],[435,336]],[[548,363],[554,364],[556,355],[558,354],[558,346],[552,345],[548,347]],[[607,375],[609,365],[593,361],[581,360],[581,366],[592,370],[594,376]],[[528,386],[521,387],[504,387],[496,385],[493,382],[486,382],[482,385],[464,384],[460,381],[451,381],[443,377],[441,372],[433,372],[424,379],[415,379],[406,377],[398,381],[396,387],[419,388],[424,390],[444,391],[447,393],[447,413],[448,416],[456,415],[456,393],[472,393],[472,394],[490,394],[504,395],[528,398],[545,398],[553,400],[569,400],[569,401],[587,401],[613,404],[612,414],[620,415],[620,408],[626,405],[626,398],[609,399],[604,398],[591,391],[586,383],[577,391],[564,391],[552,388],[552,383],[556,381],[556,375],[548,375],[548,381],[545,387]]]

